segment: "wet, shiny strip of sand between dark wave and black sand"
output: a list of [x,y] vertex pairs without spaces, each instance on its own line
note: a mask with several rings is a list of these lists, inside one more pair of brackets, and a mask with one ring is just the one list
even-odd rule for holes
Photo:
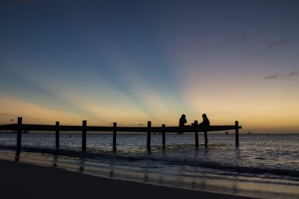
[[[221,180],[219,178],[206,178],[206,177],[198,177],[198,178],[188,178],[184,176],[161,176],[159,173],[147,173],[147,172],[132,172],[127,170],[119,170],[115,166],[111,166],[110,164],[105,163],[93,163],[93,162],[85,162],[85,160],[78,159],[77,161],[69,160],[68,158],[63,158],[63,156],[43,156],[42,154],[39,156],[32,156],[32,154],[21,153],[19,156],[16,154],[6,153],[0,154],[0,170],[5,170],[7,173],[11,173],[8,168],[2,168],[1,160],[9,161],[11,164],[20,164],[19,169],[23,169],[22,165],[32,165],[39,166],[38,170],[47,170],[44,176],[50,176],[53,178],[50,173],[54,172],[51,169],[58,169],[65,172],[71,172],[73,174],[68,173],[68,175],[76,175],[75,173],[80,173],[85,176],[93,176],[93,178],[100,178],[103,181],[105,180],[115,180],[122,181],[126,183],[140,183],[143,185],[154,185],[159,187],[166,188],[174,188],[174,189],[182,189],[182,190],[190,190],[196,193],[215,193],[220,195],[230,195],[230,196],[238,196],[241,198],[297,198],[298,190],[297,188],[285,185],[271,185],[267,183],[253,183],[253,182],[244,182],[244,181],[228,181]],[[50,170],[49,170],[50,169]],[[34,172],[32,169],[28,170],[28,172]],[[41,172],[41,171],[40,171]],[[33,175],[35,177],[36,174]],[[2,176],[0,176],[2,177]],[[6,177],[8,178],[8,177]],[[2,177],[2,179],[6,179]],[[20,176],[13,176],[14,181],[19,181]],[[26,176],[24,177],[26,178]],[[48,177],[47,177],[48,178]],[[86,177],[88,179],[88,177]],[[30,178],[31,179],[31,178]],[[102,181],[101,180],[101,181]],[[33,181],[36,181],[33,178]],[[42,180],[41,182],[43,182]],[[55,181],[55,179],[51,179],[51,181]],[[3,183],[3,182],[1,182]],[[71,182],[70,182],[71,183]],[[30,183],[29,183],[30,184]],[[4,187],[2,184],[0,184]],[[12,185],[14,186],[14,185]],[[63,186],[63,185],[61,185]],[[117,185],[118,186],[118,185]],[[112,188],[107,188],[112,189]],[[5,189],[6,190],[6,189]],[[147,192],[147,188],[142,191]],[[13,190],[11,190],[13,192]],[[1,196],[1,194],[0,194]],[[155,197],[159,197],[159,195],[155,195]],[[172,198],[175,197],[172,196]],[[183,196],[182,196],[183,197]],[[212,196],[209,196],[211,198]],[[214,197],[214,196],[213,196]],[[217,196],[218,197],[218,196]],[[226,197],[226,196],[223,196]],[[221,197],[221,198],[223,198]]]

